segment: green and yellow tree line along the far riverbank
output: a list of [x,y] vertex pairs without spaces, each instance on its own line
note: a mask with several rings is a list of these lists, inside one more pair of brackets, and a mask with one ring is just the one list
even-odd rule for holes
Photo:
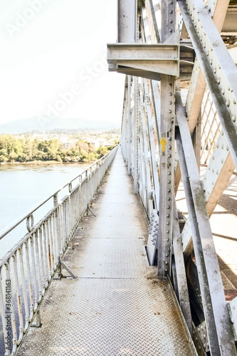
[[92,162],[104,156],[112,147],[99,147],[78,140],[73,147],[66,148],[58,139],[31,140],[14,135],[0,135],[0,162]]

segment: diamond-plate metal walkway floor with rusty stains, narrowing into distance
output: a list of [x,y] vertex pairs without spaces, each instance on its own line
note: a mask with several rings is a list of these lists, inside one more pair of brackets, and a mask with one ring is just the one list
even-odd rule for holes
[[77,278],[52,282],[19,355],[195,355],[169,282],[147,262],[147,220],[120,150],[105,178],[64,258]]

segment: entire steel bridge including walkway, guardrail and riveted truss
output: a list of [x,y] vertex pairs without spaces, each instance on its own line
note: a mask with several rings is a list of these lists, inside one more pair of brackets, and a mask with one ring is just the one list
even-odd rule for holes
[[121,147],[1,234],[18,239],[1,355],[236,355],[237,283],[226,301],[210,224],[236,182],[236,16],[236,1],[118,0]]

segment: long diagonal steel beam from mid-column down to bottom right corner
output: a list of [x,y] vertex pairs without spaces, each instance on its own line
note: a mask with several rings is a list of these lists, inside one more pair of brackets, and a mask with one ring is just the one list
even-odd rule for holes
[[[179,142],[177,146],[179,146],[179,150],[184,151],[186,164],[186,172],[184,172],[184,174],[186,174],[186,177],[189,177],[191,196],[196,215],[196,224],[193,222],[191,229],[211,354],[226,356],[236,355],[236,347],[233,342],[233,332],[231,330],[231,320],[228,315],[221,273],[219,271],[214,240],[211,234],[211,226],[206,211],[204,189],[199,178],[199,170],[192,148],[189,127],[184,114],[184,106],[181,103],[179,93],[177,93],[177,120],[181,137],[181,142]],[[181,169],[182,167],[184,167],[184,164],[181,165]],[[198,235],[194,234],[195,229],[198,229]],[[216,328],[216,331],[214,328]]]

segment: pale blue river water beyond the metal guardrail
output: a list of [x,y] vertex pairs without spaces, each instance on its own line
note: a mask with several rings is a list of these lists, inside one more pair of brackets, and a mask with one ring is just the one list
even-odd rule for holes
[[[0,236],[7,226],[77,177],[89,165],[0,164]],[[39,218],[47,212],[43,211]],[[6,236],[0,241],[0,260],[22,237]]]

